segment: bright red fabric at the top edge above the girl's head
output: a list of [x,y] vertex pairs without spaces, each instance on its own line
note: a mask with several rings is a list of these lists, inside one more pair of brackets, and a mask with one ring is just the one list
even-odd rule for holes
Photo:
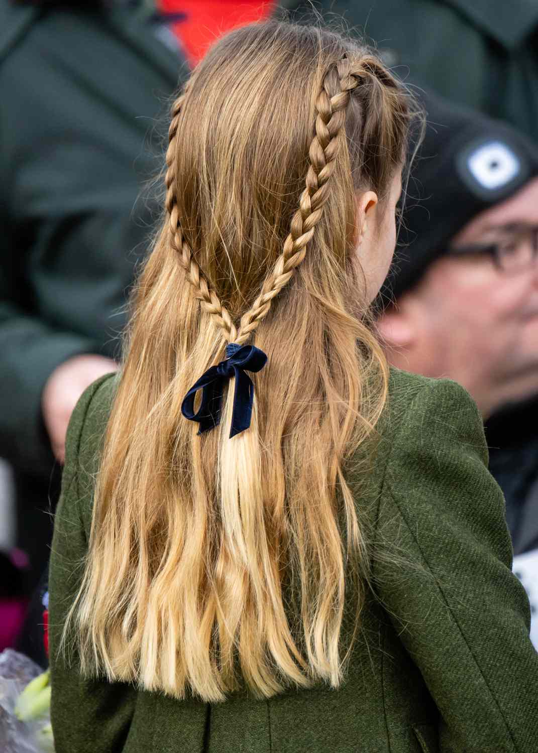
[[164,13],[183,13],[171,28],[179,37],[188,62],[195,66],[219,36],[271,16],[274,0],[158,0]]

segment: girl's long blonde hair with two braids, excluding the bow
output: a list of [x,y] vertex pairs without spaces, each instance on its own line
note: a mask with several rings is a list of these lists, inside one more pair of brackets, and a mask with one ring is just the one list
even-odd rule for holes
[[[408,94],[370,50],[270,21],[222,38],[172,108],[166,212],[136,290],[69,626],[84,675],[182,698],[338,687],[367,542],[344,463],[387,362],[366,324],[356,193],[402,164]],[[182,399],[227,343],[267,353],[250,428]],[[356,622],[357,623],[357,622]]]

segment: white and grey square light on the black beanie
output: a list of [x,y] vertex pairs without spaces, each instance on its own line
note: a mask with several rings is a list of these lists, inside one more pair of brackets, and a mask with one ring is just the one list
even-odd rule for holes
[[496,201],[521,185],[528,165],[521,151],[505,139],[480,139],[460,153],[457,160],[460,178],[475,196]]

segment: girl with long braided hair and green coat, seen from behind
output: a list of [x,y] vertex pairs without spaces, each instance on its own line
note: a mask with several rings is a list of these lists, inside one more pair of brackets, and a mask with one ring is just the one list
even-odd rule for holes
[[176,99],[121,377],[69,429],[57,753],[533,749],[478,412],[368,328],[411,119],[368,50],[274,21]]

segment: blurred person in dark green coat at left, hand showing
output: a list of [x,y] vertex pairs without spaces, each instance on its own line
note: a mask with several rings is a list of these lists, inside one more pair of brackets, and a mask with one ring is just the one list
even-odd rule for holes
[[154,219],[137,198],[182,70],[160,31],[142,3],[0,0],[0,456],[14,468],[29,588],[47,562],[54,459],[78,396],[115,368]]

